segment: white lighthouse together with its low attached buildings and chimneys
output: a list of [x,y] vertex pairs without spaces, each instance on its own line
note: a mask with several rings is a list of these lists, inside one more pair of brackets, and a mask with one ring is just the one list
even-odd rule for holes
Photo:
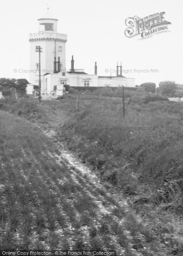
[[30,79],[31,84],[39,84],[39,53],[41,49],[41,91],[61,90],[61,85],[72,87],[135,87],[134,78],[122,76],[122,66],[116,67],[116,76],[98,76],[95,63],[94,74],[87,74],[84,69],[74,68],[72,56],[71,69],[65,67],[65,44],[67,35],[57,32],[57,19],[53,18],[49,9],[39,21],[39,32],[29,35],[30,47]]

